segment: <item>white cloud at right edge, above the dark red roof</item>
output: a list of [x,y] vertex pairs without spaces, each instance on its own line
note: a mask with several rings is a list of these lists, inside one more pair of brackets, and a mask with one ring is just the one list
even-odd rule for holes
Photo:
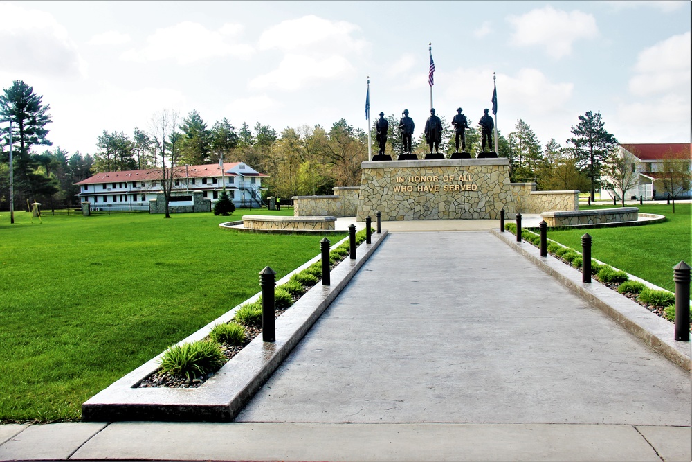
[[637,96],[661,94],[667,91],[689,94],[690,33],[673,35],[663,42],[644,49],[637,57],[630,79],[630,91]]

